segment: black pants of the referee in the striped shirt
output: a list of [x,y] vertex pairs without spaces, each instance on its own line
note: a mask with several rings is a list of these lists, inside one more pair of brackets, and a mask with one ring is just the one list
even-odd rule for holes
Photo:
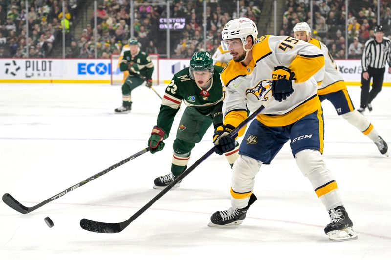
[[[363,78],[361,73],[361,102],[360,107],[367,107],[367,104],[370,104],[376,95],[382,90],[383,78],[384,78],[385,68],[375,69],[368,67],[368,80]],[[373,77],[372,90],[369,92],[370,79]]]

